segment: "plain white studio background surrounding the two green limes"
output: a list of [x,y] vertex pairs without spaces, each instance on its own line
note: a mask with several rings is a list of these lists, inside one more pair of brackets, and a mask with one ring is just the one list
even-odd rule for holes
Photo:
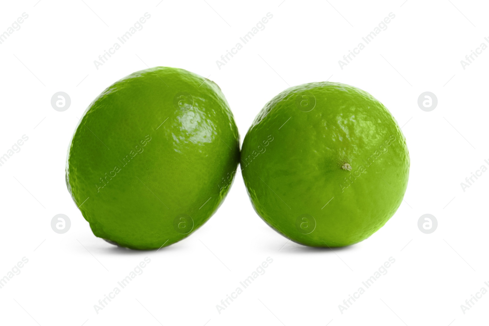
[[[483,1],[5,1],[0,33],[23,12],[20,30],[0,44],[0,155],[22,137],[21,151],[0,167],[0,277],[28,259],[0,289],[2,325],[482,325],[489,294],[489,45]],[[37,2],[37,3],[36,3]],[[144,13],[151,18],[97,70],[93,61]],[[273,18],[221,69],[226,50],[267,13]],[[372,43],[343,69],[353,50],[389,13]],[[331,81],[362,88],[394,115],[411,157],[409,185],[397,213],[369,239],[318,250],[288,242],[253,211],[241,173],[219,211],[189,238],[156,251],[120,249],[93,236],[67,192],[65,160],[78,119],[105,87],[148,66],[184,68],[215,81],[244,138],[265,103],[289,86]],[[64,91],[71,106],[55,111]],[[438,106],[425,112],[418,96]],[[304,128],[309,128],[304,126]],[[475,179],[474,179],[475,180]],[[327,198],[326,198],[327,199]],[[56,234],[51,218],[71,228]],[[417,226],[432,214],[438,228]],[[103,299],[144,259],[144,272],[97,314]],[[225,310],[226,295],[270,257]],[[339,304],[378,268],[396,261],[356,302]],[[329,324],[328,324],[329,323]]]

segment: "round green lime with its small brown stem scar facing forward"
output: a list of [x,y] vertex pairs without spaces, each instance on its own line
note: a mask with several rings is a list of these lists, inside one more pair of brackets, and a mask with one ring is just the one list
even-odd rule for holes
[[310,83],[265,105],[244,137],[241,166],[251,202],[272,228],[305,245],[340,247],[370,237],[394,215],[409,153],[372,95]]

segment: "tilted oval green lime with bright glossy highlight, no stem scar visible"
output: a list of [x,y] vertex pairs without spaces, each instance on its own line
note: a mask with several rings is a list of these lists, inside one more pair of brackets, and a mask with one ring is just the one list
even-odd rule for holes
[[155,67],[89,105],[69,146],[66,182],[95,236],[157,249],[212,216],[238,162],[238,129],[221,89],[192,72]]

